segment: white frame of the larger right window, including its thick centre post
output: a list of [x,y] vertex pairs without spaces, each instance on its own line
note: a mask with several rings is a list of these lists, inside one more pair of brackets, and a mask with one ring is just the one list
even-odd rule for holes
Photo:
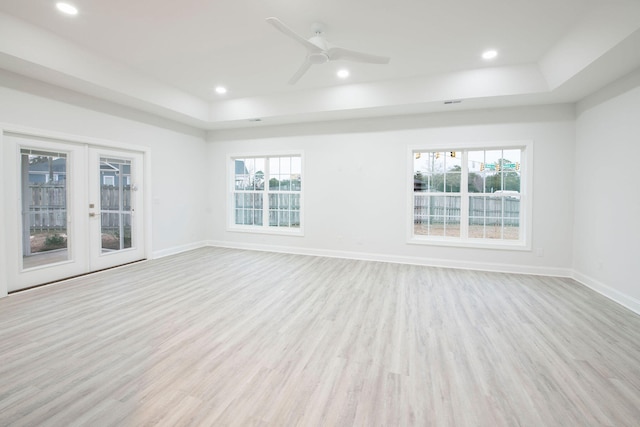
[[[518,240],[469,238],[462,237],[468,233],[470,196],[476,193],[468,191],[468,155],[469,151],[478,150],[521,150],[520,181],[520,236]],[[462,161],[460,193],[442,193],[443,196],[461,197],[460,237],[425,236],[414,234],[414,156],[416,152],[456,151],[460,152]],[[501,249],[514,251],[531,251],[531,230],[533,223],[533,141],[498,141],[498,142],[466,142],[466,143],[425,143],[408,147],[407,153],[407,243],[417,245],[451,246],[479,249]],[[463,178],[464,176],[464,178]]]

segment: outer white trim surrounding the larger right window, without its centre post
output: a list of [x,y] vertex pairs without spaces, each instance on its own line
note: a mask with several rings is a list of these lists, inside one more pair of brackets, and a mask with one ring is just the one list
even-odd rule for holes
[[[522,158],[520,164],[523,169],[524,182],[520,187],[520,203],[524,207],[520,211],[519,240],[490,240],[490,239],[463,239],[459,237],[441,236],[415,236],[413,185],[414,163],[413,156],[416,151],[470,151],[470,150],[495,150],[495,149],[521,149]],[[452,143],[425,143],[411,145],[407,151],[407,243],[415,245],[450,246],[461,248],[499,249],[512,251],[531,251],[532,223],[533,223],[533,141],[492,141],[492,142],[452,142]],[[464,198],[463,198],[464,199]],[[463,226],[461,224],[461,226]],[[466,225],[465,225],[466,227]]]

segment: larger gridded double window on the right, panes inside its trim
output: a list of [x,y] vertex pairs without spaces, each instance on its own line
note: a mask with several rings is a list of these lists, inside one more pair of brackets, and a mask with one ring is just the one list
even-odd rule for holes
[[526,146],[414,149],[412,242],[524,247]]

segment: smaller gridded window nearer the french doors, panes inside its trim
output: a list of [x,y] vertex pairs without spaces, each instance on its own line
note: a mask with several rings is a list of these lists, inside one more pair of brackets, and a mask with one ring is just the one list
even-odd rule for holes
[[301,232],[302,156],[231,157],[231,228]]

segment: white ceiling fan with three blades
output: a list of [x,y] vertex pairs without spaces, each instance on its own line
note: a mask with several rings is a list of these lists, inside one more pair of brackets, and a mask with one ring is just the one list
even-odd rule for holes
[[289,84],[295,84],[304,73],[307,72],[309,67],[317,64],[324,64],[329,61],[345,60],[355,62],[366,62],[369,64],[388,64],[389,59],[386,56],[370,55],[368,53],[357,52],[355,50],[344,49],[337,47],[329,43],[322,36],[323,26],[322,24],[313,24],[312,30],[314,35],[305,39],[291,28],[287,27],[278,18],[267,18],[267,22],[276,27],[281,33],[291,37],[302,46],[307,49],[307,57],[304,62],[298,68],[298,71],[289,79]]

